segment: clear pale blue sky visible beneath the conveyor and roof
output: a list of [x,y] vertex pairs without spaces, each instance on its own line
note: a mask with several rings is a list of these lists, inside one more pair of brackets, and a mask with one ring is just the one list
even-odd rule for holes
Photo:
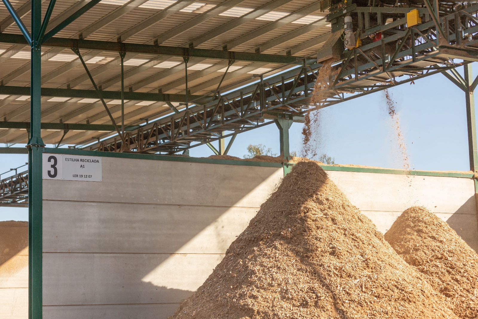
[[[478,63],[473,63],[474,73]],[[459,68],[460,73],[463,68]],[[437,74],[389,90],[400,119],[401,130],[415,170],[467,171],[468,146],[465,93]],[[396,133],[386,112],[384,94],[376,92],[320,111],[323,141],[319,154],[326,153],[339,164],[402,168]],[[290,149],[299,154],[302,128],[290,130]],[[228,139],[226,140],[227,143]],[[217,143],[216,143],[217,144]],[[229,155],[243,157],[249,144],[264,144],[279,153],[279,132],[274,124],[239,134]],[[217,147],[217,145],[216,145]],[[190,156],[207,157],[207,146],[192,148]],[[0,172],[18,167],[26,155],[0,154]],[[26,208],[0,207],[0,220],[27,220]]]

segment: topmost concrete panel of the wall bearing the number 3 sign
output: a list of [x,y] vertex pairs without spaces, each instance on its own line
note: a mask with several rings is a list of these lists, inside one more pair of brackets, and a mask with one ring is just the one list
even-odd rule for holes
[[[247,162],[245,162],[247,163]],[[43,180],[43,200],[259,207],[276,167],[102,158],[103,182]]]

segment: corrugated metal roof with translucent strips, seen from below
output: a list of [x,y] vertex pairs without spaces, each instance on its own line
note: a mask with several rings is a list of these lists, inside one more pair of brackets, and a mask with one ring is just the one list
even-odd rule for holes
[[[11,1],[16,9],[27,3],[27,0]],[[124,2],[124,1],[123,1]],[[314,7],[306,9],[310,11],[308,15],[324,16],[326,12],[318,11],[318,2],[315,0],[291,0],[288,2],[282,1],[282,5],[278,1],[267,0],[208,0],[202,1],[211,6],[209,11],[185,12],[176,10],[170,12],[169,15],[163,16],[162,19],[155,19],[153,23],[142,25],[141,23],[148,18],[158,16],[163,10],[147,7],[139,7],[145,0],[130,0],[130,7],[125,5],[111,4],[111,1],[101,1],[95,7],[87,11],[81,17],[70,23],[57,36],[78,38],[79,34],[89,40],[113,41],[116,42],[121,34],[129,34],[123,36],[122,41],[128,43],[152,44],[157,37],[163,39],[163,34],[169,34],[168,38],[163,39],[160,43],[168,46],[183,46],[187,47],[189,43],[193,42],[194,46],[206,49],[221,50],[225,44],[235,41],[241,36],[246,35],[248,41],[228,46],[228,50],[233,51],[254,51],[256,47],[274,40],[284,34],[296,32],[295,30],[304,27],[305,24],[299,23],[282,23],[282,19],[272,21],[257,19],[257,14],[254,16],[254,10],[267,5],[267,11],[285,12],[285,14],[293,13],[301,10],[311,4],[317,3],[317,10]],[[278,6],[275,7],[274,3]],[[49,28],[58,24],[65,19],[65,12],[73,12],[74,8],[79,8],[86,3],[83,0],[57,0],[51,18]],[[117,1],[121,3],[121,1]],[[126,2],[125,2],[126,3]],[[178,5],[179,2],[173,4]],[[3,4],[0,4],[2,8]],[[42,9],[46,11],[48,1],[43,1]],[[184,7],[184,5],[183,5]],[[239,8],[238,8],[239,7]],[[243,16],[220,15],[220,13],[232,8],[229,12],[244,12]],[[245,8],[245,9],[240,9]],[[4,9],[4,8],[2,8]],[[265,12],[267,12],[265,11]],[[121,12],[116,19],[106,21],[113,13]],[[165,12],[165,11],[164,11]],[[215,12],[215,14],[211,14]],[[248,12],[248,13],[246,13]],[[236,14],[236,13],[232,13]],[[268,16],[280,17],[284,14],[274,13]],[[6,10],[0,10],[0,26],[1,32],[10,34],[21,34],[18,27],[12,22],[9,22],[9,15]],[[267,17],[266,17],[267,18]],[[238,20],[237,20],[238,19]],[[267,18],[269,19],[269,18]],[[198,22],[198,20],[200,20]],[[290,20],[290,19],[289,19]],[[23,21],[27,27],[30,25],[30,13],[23,16]],[[231,22],[241,21],[234,27],[229,27]],[[308,21],[308,20],[307,20]],[[311,20],[312,21],[312,20]],[[8,23],[7,23],[8,22]],[[271,27],[268,32],[255,34],[255,30],[263,26]],[[92,28],[91,26],[95,26]],[[138,27],[138,26],[141,26]],[[173,32],[180,26],[181,32]],[[306,41],[312,40],[317,36],[330,32],[329,26],[322,26],[311,31],[304,32],[294,36],[290,40],[275,44],[275,46],[265,50],[265,53],[270,54],[284,54],[285,50],[292,49],[303,44]],[[213,34],[213,35],[211,35]],[[250,36],[254,34],[254,36]],[[207,35],[205,37],[205,35]],[[196,39],[205,39],[203,43],[196,43]],[[195,42],[196,41],[196,42]],[[204,40],[203,40],[204,41]],[[305,56],[315,52],[317,47],[322,46],[321,43],[310,44],[309,48],[302,48],[302,51],[297,52],[296,55]],[[29,86],[30,73],[20,72],[20,69],[28,68],[29,60],[8,57],[13,50],[29,51],[29,47],[21,45],[12,46],[11,44],[0,43],[0,80],[3,85],[14,86]],[[48,88],[71,88],[71,89],[86,89],[93,90],[93,86],[86,76],[85,69],[79,63],[77,58],[74,58],[73,52],[69,49],[58,49],[52,47],[43,48],[42,60],[42,77],[43,87]],[[294,51],[294,50],[293,50]],[[88,69],[92,72],[94,79],[98,85],[102,85],[102,90],[120,91],[120,63],[119,54],[116,52],[101,52],[81,50],[82,56],[87,56]],[[51,57],[56,56],[51,59]],[[294,53],[295,54],[295,53]],[[46,57],[49,57],[48,59]],[[71,58],[71,61],[69,59]],[[130,60],[136,59],[136,60]],[[130,87],[138,92],[158,92],[164,89],[164,93],[184,93],[185,92],[185,65],[182,57],[155,57],[154,55],[134,54],[128,53],[125,60],[129,60],[126,64],[134,64],[133,62],[141,63],[141,59],[149,62],[149,67],[141,65],[125,65],[125,88],[129,90]],[[154,65],[163,61],[176,62],[174,65],[166,63],[163,65],[174,68],[155,68]],[[225,68],[227,63],[215,59],[191,58],[189,65],[188,76],[190,76],[188,89],[191,94],[207,94],[211,90],[217,88],[217,84],[222,78],[223,72],[218,72],[218,69]],[[95,62],[95,63],[93,63]],[[196,67],[193,65],[196,64]],[[206,66],[204,66],[206,65]],[[210,65],[210,66],[207,66]],[[197,69],[203,66],[204,69]],[[247,61],[237,61],[234,63],[234,68],[228,72],[225,80],[222,82],[222,87],[234,85],[239,82],[251,79],[252,74],[245,72],[245,68],[275,68],[279,64],[267,63],[252,63]],[[59,69],[65,68],[65,72],[60,72]],[[195,69],[196,68],[196,69]],[[196,73],[196,76],[194,75]],[[7,118],[9,121],[29,121],[29,103],[28,101],[17,100],[15,96],[9,96],[1,99],[0,96],[0,116]],[[92,123],[92,124],[107,124],[110,123],[109,117],[105,112],[104,106],[100,102],[95,103],[80,103],[82,99],[71,98],[67,101],[51,100],[52,97],[42,97],[42,122],[59,122],[64,123]],[[110,100],[106,100],[108,103]],[[141,101],[129,101],[125,104],[126,125],[144,123],[146,119],[157,118],[162,115],[170,114],[172,111],[168,105],[163,102],[152,103],[151,105],[137,105]],[[120,109],[118,104],[107,104],[112,110],[115,118],[120,117]],[[57,143],[63,135],[63,132],[42,130],[43,138],[47,143]],[[68,132],[64,137],[67,144],[74,145],[76,143],[91,142],[98,137],[107,136],[108,132]],[[0,129],[0,142],[26,142],[27,134],[25,130],[19,129]]]

